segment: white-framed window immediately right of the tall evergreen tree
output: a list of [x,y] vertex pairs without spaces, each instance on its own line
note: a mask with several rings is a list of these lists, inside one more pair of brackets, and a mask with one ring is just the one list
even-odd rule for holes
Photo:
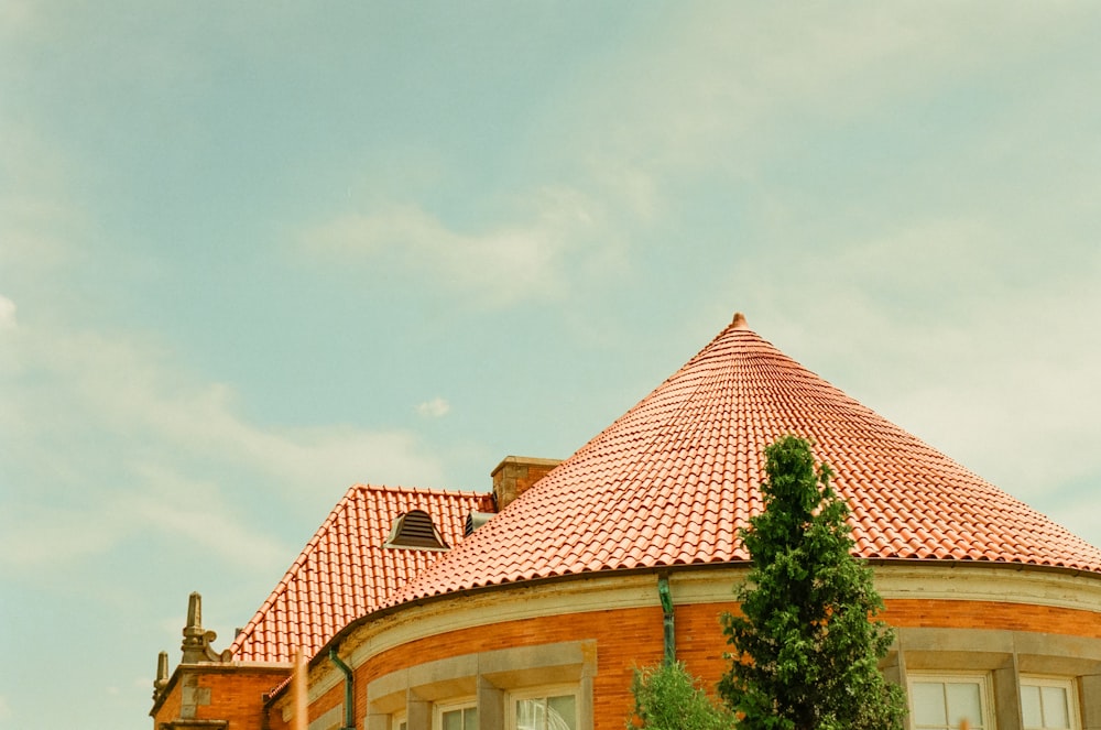
[[992,730],[990,686],[984,675],[912,675],[911,717],[915,730]]

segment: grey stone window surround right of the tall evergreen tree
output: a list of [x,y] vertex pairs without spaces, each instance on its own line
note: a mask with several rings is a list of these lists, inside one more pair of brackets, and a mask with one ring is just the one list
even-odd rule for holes
[[[992,629],[895,630],[884,675],[903,687],[911,675],[983,673],[990,678],[998,730],[1022,730],[1021,680],[1073,683],[1082,730],[1101,730],[1101,639]],[[913,724],[906,718],[906,730]]]

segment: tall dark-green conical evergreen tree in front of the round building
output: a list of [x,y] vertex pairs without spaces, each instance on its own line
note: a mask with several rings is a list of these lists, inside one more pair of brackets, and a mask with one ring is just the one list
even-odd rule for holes
[[898,730],[905,697],[879,671],[893,632],[872,571],[852,556],[849,508],[810,443],[765,448],[764,511],[741,537],[753,560],[719,694],[745,730]]

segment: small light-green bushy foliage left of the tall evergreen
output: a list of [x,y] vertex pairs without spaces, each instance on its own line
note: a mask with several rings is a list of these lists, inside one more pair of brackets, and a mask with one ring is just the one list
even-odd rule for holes
[[733,716],[717,706],[680,662],[634,671],[634,716],[630,730],[728,730]]

